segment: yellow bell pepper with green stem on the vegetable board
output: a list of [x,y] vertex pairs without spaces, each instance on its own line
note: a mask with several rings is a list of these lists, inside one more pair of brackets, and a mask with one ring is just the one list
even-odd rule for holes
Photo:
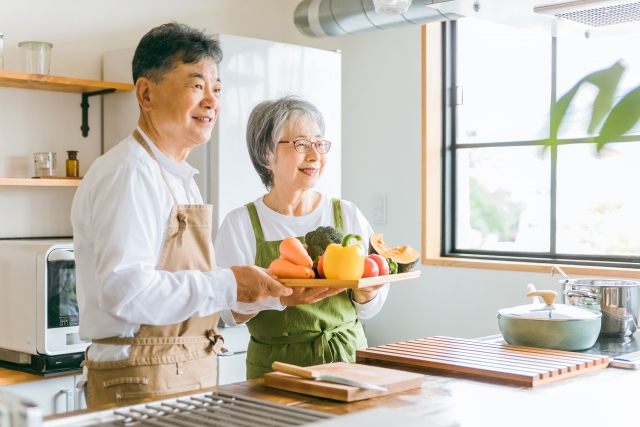
[[359,280],[364,272],[364,249],[362,245],[349,245],[351,239],[362,241],[357,234],[348,234],[342,244],[332,243],[324,253],[324,275],[331,280]]

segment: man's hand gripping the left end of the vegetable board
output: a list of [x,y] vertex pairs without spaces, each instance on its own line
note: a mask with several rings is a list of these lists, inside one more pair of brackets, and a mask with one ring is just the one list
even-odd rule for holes
[[238,284],[238,302],[256,302],[266,297],[285,297],[292,289],[278,282],[264,268],[255,265],[233,266]]

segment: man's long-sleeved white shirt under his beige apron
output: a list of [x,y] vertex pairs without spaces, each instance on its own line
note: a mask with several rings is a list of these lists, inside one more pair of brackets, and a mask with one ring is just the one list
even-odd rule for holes
[[[174,201],[201,204],[198,171],[166,157],[140,130],[157,158],[129,136],[98,158],[71,209],[80,337],[133,337],[140,325],[169,325],[235,307],[237,284],[226,268],[156,270]],[[192,197],[195,197],[195,199]],[[88,358],[129,357],[130,346],[92,344]]]

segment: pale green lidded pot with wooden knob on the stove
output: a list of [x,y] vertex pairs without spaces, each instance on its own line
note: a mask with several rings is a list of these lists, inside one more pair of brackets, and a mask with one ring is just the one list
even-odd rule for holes
[[558,294],[537,291],[544,304],[527,304],[498,311],[498,326],[507,344],[553,350],[577,351],[593,347],[602,313],[565,304],[554,304]]

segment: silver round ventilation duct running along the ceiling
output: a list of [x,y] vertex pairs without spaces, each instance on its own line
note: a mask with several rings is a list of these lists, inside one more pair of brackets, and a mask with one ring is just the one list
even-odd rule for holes
[[376,12],[373,0],[304,0],[293,21],[306,36],[337,37],[460,18],[429,7],[446,1],[450,0],[413,0],[406,13],[385,15]]

